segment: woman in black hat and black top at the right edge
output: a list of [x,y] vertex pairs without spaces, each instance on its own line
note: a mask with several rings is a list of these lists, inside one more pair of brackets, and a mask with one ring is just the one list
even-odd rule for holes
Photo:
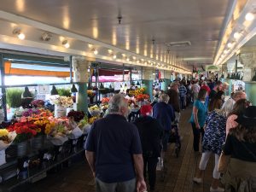
[[226,192],[256,191],[256,107],[249,106],[236,119],[238,126],[230,130],[224,155],[230,163],[224,173]]

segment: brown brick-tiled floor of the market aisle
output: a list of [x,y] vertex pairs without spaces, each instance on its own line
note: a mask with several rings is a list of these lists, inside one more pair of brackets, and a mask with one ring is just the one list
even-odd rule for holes
[[[207,170],[201,185],[192,182],[195,169],[201,154],[193,151],[193,134],[189,125],[191,108],[182,112],[179,126],[183,137],[182,148],[177,158],[174,153],[174,144],[171,144],[167,153],[166,178],[161,181],[160,172],[157,172],[157,192],[204,192],[209,191],[212,180],[212,158],[209,160]],[[80,160],[72,166],[59,172],[50,173],[48,177],[32,184],[27,192],[94,192],[94,179],[87,162]]]

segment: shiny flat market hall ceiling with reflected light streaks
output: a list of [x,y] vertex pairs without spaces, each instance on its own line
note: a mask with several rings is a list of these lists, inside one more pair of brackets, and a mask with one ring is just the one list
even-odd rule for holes
[[[179,58],[190,64],[211,64],[234,2],[236,1],[1,0],[0,9],[156,61],[166,62]],[[246,2],[240,0],[239,6],[242,8]],[[8,18],[1,22],[6,20]],[[15,23],[12,27],[20,25],[22,23]],[[32,37],[31,27],[26,26],[27,23],[21,29],[27,32],[27,38]],[[0,31],[5,35],[3,30],[2,27]],[[48,31],[47,28],[44,30]],[[32,41],[39,42],[39,38]],[[189,46],[170,46],[172,42],[187,41]]]

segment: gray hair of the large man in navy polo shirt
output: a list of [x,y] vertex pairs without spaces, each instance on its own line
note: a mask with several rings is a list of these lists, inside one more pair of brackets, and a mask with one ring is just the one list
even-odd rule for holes
[[117,94],[113,96],[108,102],[109,113],[119,113],[122,107],[127,107],[125,97],[122,94]]

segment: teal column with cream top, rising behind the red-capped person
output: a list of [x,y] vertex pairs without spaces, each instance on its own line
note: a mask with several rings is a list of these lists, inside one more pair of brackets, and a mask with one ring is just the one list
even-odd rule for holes
[[143,87],[146,89],[146,94],[153,100],[153,69],[143,67]]

